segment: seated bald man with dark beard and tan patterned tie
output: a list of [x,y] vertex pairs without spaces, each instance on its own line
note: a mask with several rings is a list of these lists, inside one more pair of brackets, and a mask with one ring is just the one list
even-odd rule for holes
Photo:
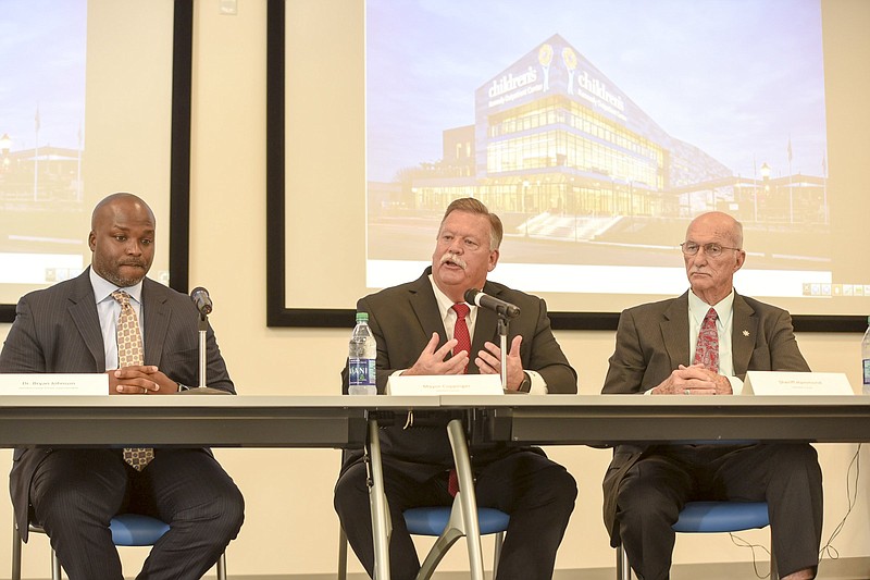
[[[24,296],[2,353],[3,373],[105,372],[110,395],[163,395],[198,384],[198,311],[189,297],[145,275],[154,256],[151,209],[132,194],[100,201],[91,217],[91,266]],[[116,325],[123,289],[141,321],[144,363],[120,368]],[[235,394],[214,333],[207,333],[209,386]],[[126,437],[125,437],[126,439]],[[15,449],[10,476],[15,521],[45,528],[73,580],[121,580],[109,520],[139,513],[170,523],[138,578],[200,578],[234,539],[244,499],[211,452],[156,449],[145,467],[122,449]]]

